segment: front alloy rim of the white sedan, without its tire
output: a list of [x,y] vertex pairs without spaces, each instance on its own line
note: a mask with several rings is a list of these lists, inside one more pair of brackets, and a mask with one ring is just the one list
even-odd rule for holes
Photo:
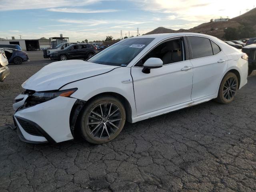
[[122,124],[122,112],[112,102],[104,102],[94,107],[87,118],[89,134],[98,140],[110,138]]

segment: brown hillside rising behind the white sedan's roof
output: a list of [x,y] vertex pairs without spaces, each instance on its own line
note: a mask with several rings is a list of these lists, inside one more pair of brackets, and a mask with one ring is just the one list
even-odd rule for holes
[[228,22],[207,22],[202,23],[194,28],[188,30],[172,30],[164,27],[158,27],[147,34],[158,34],[158,33],[178,33],[178,32],[193,32],[193,33],[203,33],[222,38],[224,35],[224,29],[227,27],[239,28],[241,26],[251,26],[256,32],[256,8],[230,19]]

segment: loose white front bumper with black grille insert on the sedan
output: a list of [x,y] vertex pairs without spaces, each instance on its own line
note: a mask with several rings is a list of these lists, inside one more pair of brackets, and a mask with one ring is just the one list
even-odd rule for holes
[[29,143],[58,143],[74,139],[74,125],[84,101],[58,96],[26,106],[27,94],[15,98],[14,124],[20,140]]

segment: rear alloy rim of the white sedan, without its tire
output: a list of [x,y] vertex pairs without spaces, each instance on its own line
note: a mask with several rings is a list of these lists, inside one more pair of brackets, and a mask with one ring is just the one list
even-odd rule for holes
[[230,77],[226,80],[223,86],[223,96],[226,100],[231,100],[236,94],[236,79]]

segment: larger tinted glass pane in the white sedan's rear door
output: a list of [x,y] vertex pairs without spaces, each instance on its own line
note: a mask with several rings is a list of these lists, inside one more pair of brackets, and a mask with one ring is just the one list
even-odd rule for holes
[[212,45],[208,38],[189,36],[193,59],[212,56]]

